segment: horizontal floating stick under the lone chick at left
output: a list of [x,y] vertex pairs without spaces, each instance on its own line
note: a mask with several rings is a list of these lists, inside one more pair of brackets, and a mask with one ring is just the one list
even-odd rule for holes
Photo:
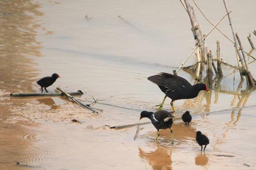
[[[84,94],[82,91],[68,93],[71,96],[79,96]],[[29,96],[64,96],[63,93],[11,93],[11,97],[29,97]]]

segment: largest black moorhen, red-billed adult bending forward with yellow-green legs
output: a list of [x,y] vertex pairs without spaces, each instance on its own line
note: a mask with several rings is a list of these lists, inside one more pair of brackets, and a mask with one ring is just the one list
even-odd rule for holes
[[148,80],[158,85],[161,91],[166,94],[158,110],[162,110],[167,96],[172,99],[171,106],[173,111],[175,111],[173,107],[175,100],[194,98],[198,96],[201,90],[209,92],[207,85],[204,83],[191,85],[186,79],[169,73],[161,72],[158,75],[148,77]]

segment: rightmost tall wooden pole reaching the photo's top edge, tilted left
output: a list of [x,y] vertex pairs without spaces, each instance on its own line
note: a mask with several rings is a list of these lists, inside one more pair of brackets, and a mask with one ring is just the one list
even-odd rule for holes
[[[226,11],[228,11],[226,0],[223,0],[223,2],[224,2],[224,6],[225,6],[225,8],[226,8]],[[228,17],[228,20],[229,20],[229,22],[230,22],[230,27],[231,27],[232,34],[233,34],[234,45],[235,45],[235,48],[236,48],[236,56],[237,56],[238,67],[240,68],[241,65],[242,65],[242,67],[245,69],[244,62],[243,62],[242,57],[241,57],[241,54],[240,54],[240,52],[239,52],[239,48],[238,48],[238,44],[237,44],[236,36],[235,36],[235,32],[234,32],[234,26],[233,26],[233,23],[232,23],[230,14],[227,14],[227,17]],[[239,57],[239,58],[238,58],[238,57]],[[241,62],[241,64],[240,64],[239,62]],[[240,72],[240,76],[241,76],[241,79],[242,79],[242,78],[243,78],[243,76],[242,76],[242,69],[239,69],[239,72]]]

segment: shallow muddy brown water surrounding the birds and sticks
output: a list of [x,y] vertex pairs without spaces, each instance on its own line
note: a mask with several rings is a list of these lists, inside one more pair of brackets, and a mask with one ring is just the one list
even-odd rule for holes
[[[246,36],[255,29],[256,21],[250,19],[255,2],[238,2],[228,3],[250,51]],[[198,3],[213,22],[225,12],[222,2]],[[198,19],[207,32],[211,26],[199,13]],[[156,142],[151,124],[143,125],[135,140],[136,127],[109,129],[138,122],[142,110],[154,111],[163,94],[146,77],[172,72],[191,52],[190,23],[179,1],[2,1],[0,23],[1,170],[255,168],[255,107],[198,114],[189,126],[177,120],[174,145],[169,130],[160,131]],[[227,20],[219,28],[232,36]],[[214,31],[207,39],[212,51],[216,40],[221,41],[224,60],[235,64],[232,44]],[[250,68],[254,74],[253,63]],[[176,101],[175,116],[186,110],[197,114],[255,105],[255,92],[232,71],[227,68],[227,77],[214,79],[210,94]],[[82,90],[79,98],[87,103],[92,96],[104,100],[93,106],[103,112],[92,114],[65,97],[9,97],[40,92],[36,80],[54,72],[62,78],[50,92],[58,86]],[[179,75],[194,83],[188,73]],[[169,102],[164,108],[171,111]],[[210,139],[205,152],[195,142],[197,130]]]

